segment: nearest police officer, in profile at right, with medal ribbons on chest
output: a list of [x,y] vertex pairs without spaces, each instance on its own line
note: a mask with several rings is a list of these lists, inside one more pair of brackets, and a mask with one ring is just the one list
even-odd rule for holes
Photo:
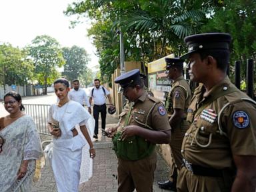
[[256,105],[227,77],[228,33],[185,37],[192,81],[178,191],[255,191]]

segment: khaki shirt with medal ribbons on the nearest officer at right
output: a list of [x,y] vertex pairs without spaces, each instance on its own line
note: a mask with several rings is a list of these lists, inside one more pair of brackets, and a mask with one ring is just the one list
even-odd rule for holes
[[[207,99],[223,93],[229,87],[234,87],[236,92],[218,97],[195,117],[197,109],[207,102]],[[256,155],[255,105],[243,100],[232,103],[237,99],[249,99],[249,97],[239,91],[228,77],[209,90],[205,97],[203,97],[204,92],[203,85],[199,85],[195,89],[187,111],[187,121],[192,124],[183,139],[181,147],[183,157],[195,165],[223,169],[233,167],[232,155]],[[227,103],[232,104],[227,105],[223,113],[219,114]],[[227,137],[219,133],[217,123],[219,115],[221,115],[222,130]],[[210,139],[210,137],[212,138]],[[199,145],[203,145],[203,147]]]

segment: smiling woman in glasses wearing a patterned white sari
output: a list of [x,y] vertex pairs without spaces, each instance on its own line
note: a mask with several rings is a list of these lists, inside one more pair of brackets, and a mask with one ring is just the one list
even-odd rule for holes
[[6,93],[4,105],[10,114],[0,119],[0,191],[31,191],[35,160],[43,155],[40,137],[19,93]]

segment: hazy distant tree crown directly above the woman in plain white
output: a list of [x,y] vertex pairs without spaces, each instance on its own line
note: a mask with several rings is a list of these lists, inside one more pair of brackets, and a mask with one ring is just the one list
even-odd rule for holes
[[88,70],[87,64],[89,56],[87,52],[85,49],[75,45],[71,48],[64,47],[62,51],[66,61],[62,75],[71,81],[73,79],[78,79],[79,75]]

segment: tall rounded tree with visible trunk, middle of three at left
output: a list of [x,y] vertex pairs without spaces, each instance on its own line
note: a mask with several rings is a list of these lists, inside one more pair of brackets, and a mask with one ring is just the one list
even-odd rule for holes
[[61,47],[56,39],[48,35],[41,35],[32,40],[27,47],[29,56],[35,66],[35,79],[44,85],[44,94],[47,94],[47,85],[59,76],[57,67],[65,64]]

